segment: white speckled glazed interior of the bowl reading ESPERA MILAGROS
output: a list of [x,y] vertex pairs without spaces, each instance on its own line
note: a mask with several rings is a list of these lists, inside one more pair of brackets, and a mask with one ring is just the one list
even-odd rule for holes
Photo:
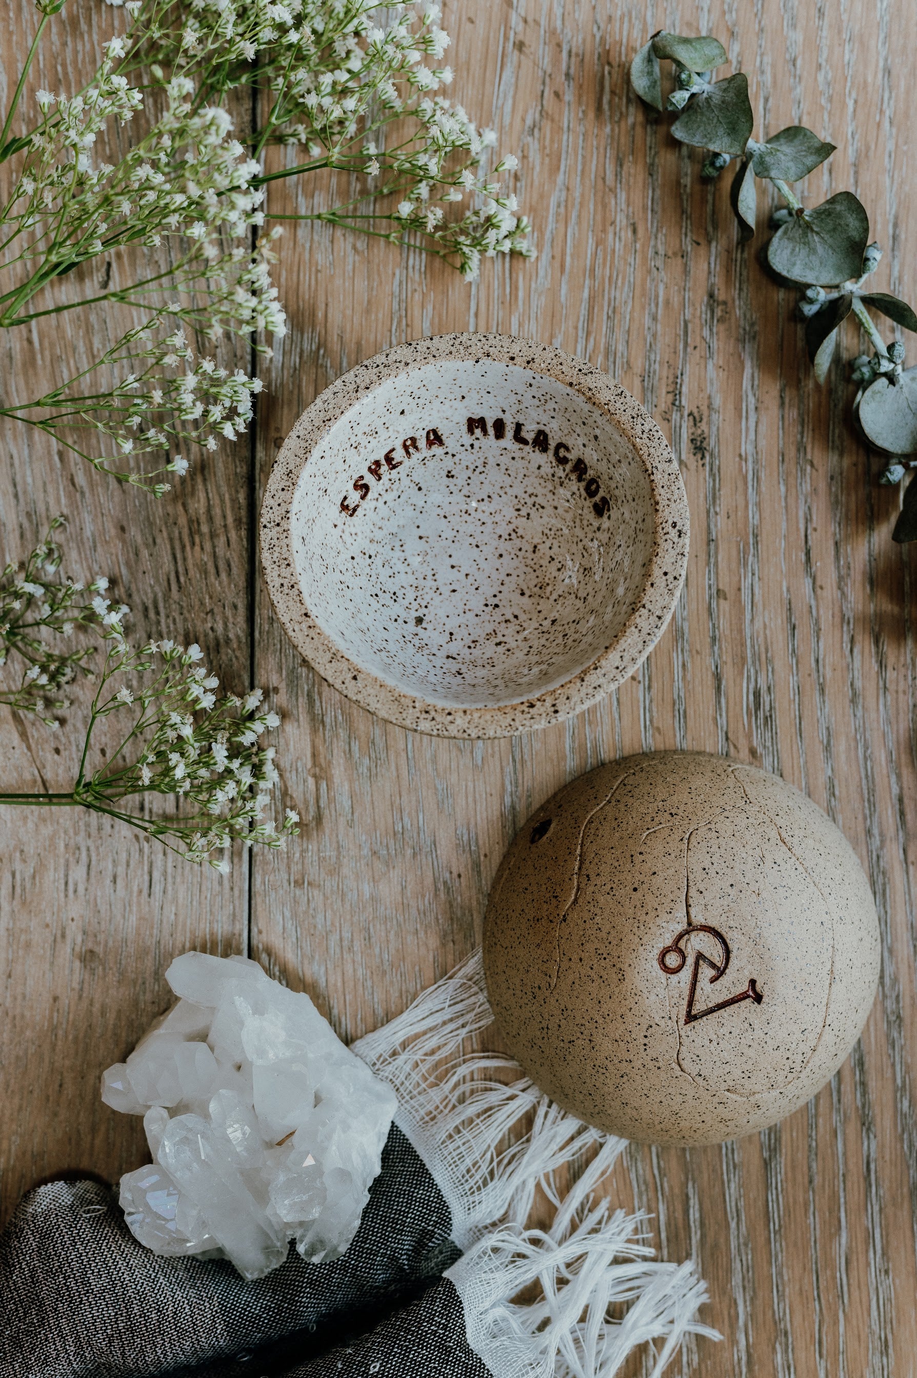
[[309,613],[356,666],[430,703],[496,707],[614,642],[643,598],[654,506],[633,445],[574,389],[440,360],[321,437],[291,533]]

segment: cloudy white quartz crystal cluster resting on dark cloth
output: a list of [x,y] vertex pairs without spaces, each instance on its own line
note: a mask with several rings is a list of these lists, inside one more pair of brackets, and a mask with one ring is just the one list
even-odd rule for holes
[[102,1100],[142,1115],[153,1162],[121,1178],[121,1207],[157,1254],[229,1258],[243,1277],[313,1262],[353,1239],[381,1167],[394,1091],[308,995],[256,962],[186,952],[165,973],[178,1003]]

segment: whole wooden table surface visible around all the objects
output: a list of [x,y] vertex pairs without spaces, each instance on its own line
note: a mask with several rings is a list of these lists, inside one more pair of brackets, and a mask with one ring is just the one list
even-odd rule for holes
[[[34,10],[7,3],[10,83]],[[94,0],[70,11],[37,73],[51,90],[80,84],[110,18]],[[472,949],[501,854],[565,780],[632,751],[718,751],[782,773],[852,842],[878,905],[881,996],[807,1108],[740,1142],[634,1146],[611,1189],[654,1213],[663,1255],[694,1255],[709,1282],[706,1319],[725,1338],[689,1346],[684,1374],[906,1378],[917,568],[891,543],[899,492],[876,485],[880,460],[851,433],[845,369],[814,383],[793,295],[738,247],[725,181],[701,183],[699,157],[647,123],[627,62],[661,26],[721,37],[749,73],[758,130],[798,121],[838,145],[807,196],[855,190],[887,251],[876,287],[913,300],[917,11],[909,0],[447,0],[443,22],[451,94],[520,156],[532,265],[487,262],[467,287],[422,255],[325,226],[288,230],[290,333],[251,448],[199,460],[159,504],[40,434],[11,423],[4,434],[3,554],[23,554],[68,511],[68,568],[110,575],[138,635],[197,639],[228,683],[263,685],[285,718],[279,765],[303,823],[285,854],[240,853],[223,879],[108,820],[0,810],[4,1211],[62,1170],[113,1180],[143,1160],[139,1120],[101,1104],[98,1078],[165,1005],[177,954],[248,951],[354,1038]],[[312,194],[285,186],[272,208]],[[91,357],[91,333],[113,339],[116,325],[113,313],[74,313],[4,338],[10,387],[58,379]],[[451,329],[528,335],[607,369],[672,437],[691,504],[684,594],[640,672],[571,722],[502,741],[414,736],[330,689],[285,641],[255,544],[259,496],[298,413],[376,350]],[[848,328],[844,354],[855,351]],[[74,750],[76,733],[55,740],[6,714],[0,783],[61,788]]]

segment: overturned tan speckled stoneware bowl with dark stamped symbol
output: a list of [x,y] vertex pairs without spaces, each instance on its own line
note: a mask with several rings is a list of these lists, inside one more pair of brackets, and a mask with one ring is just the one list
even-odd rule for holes
[[706,1144],[803,1105],[878,980],[852,847],[778,776],[699,752],[574,780],[506,853],[484,970],[513,1056],[612,1134]]

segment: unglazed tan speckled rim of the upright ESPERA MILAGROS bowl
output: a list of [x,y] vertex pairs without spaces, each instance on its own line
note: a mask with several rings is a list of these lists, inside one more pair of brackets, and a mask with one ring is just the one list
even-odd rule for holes
[[[310,615],[296,570],[292,508],[299,478],[331,426],[396,375],[440,360],[488,360],[542,373],[603,411],[640,457],[654,503],[654,546],[644,593],[614,641],[570,679],[530,699],[459,707],[411,695],[350,660]],[[342,373],[302,412],[283,442],[261,507],[261,559],[268,591],[291,642],[335,689],[363,708],[437,737],[503,737],[563,722],[627,679],[665,631],[688,565],[688,499],[678,464],[649,413],[586,360],[514,335],[452,332],[408,340]]]

